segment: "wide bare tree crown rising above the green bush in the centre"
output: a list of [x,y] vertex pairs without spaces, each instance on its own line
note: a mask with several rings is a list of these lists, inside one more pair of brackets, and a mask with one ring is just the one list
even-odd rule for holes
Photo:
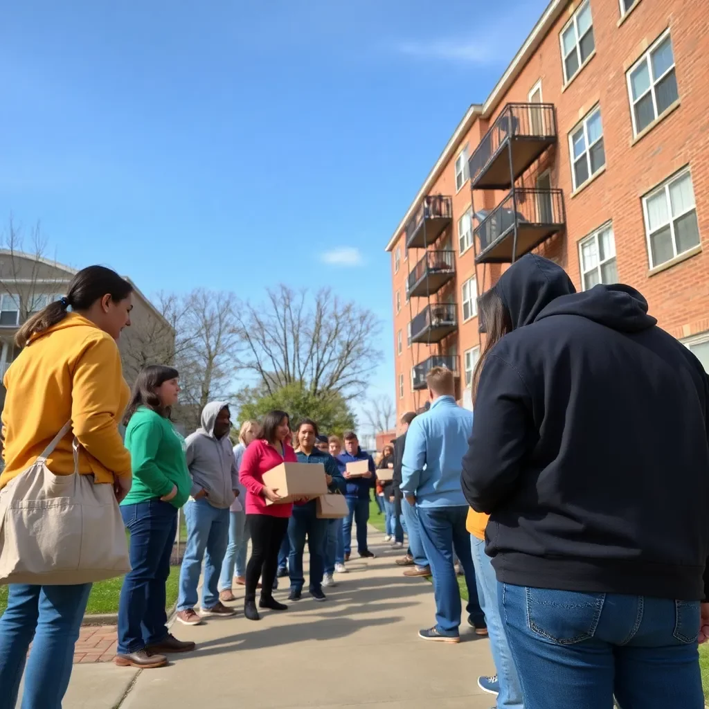
[[256,374],[269,394],[300,382],[316,395],[360,396],[381,360],[374,313],[340,301],[330,289],[308,297],[281,284],[267,294],[267,303],[236,308],[236,364]]

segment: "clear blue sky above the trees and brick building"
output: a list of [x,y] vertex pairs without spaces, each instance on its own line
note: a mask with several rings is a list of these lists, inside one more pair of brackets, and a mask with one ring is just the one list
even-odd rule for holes
[[372,386],[393,394],[384,246],[545,5],[6,4],[0,222],[149,295],[333,286],[383,320]]

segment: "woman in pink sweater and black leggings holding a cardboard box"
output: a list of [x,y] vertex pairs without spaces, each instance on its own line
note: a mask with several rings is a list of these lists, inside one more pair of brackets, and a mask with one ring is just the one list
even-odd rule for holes
[[247,447],[239,470],[239,479],[246,488],[246,524],[251,535],[251,558],[246,566],[244,598],[244,615],[249,620],[261,618],[256,608],[259,576],[262,577],[259,608],[288,608],[273,597],[273,584],[278,552],[288,530],[293,505],[284,503],[267,506],[267,500],[276,502],[280,495],[277,490],[264,485],[263,475],[283,462],[298,462],[296,454],[286,442],[290,432],[288,414],[285,411],[269,411],[261,426],[262,437]]

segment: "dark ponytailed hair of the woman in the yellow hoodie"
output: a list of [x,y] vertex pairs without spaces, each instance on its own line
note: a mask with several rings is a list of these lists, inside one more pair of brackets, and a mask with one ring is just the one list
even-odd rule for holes
[[15,344],[24,347],[32,337],[49,330],[67,316],[67,308],[74,311],[87,311],[96,301],[104,296],[111,296],[114,303],[128,298],[133,293],[133,286],[121,278],[115,271],[104,266],[89,266],[79,271],[66,296],[50,303],[31,318],[17,331]]

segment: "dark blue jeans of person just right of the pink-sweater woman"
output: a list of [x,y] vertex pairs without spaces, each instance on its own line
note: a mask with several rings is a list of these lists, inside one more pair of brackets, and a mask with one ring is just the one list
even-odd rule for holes
[[288,570],[291,576],[291,588],[301,591],[305,584],[303,576],[303,549],[308,536],[310,552],[310,590],[321,591],[325,572],[325,533],[328,520],[318,520],[316,501],[294,506],[293,515],[288,523],[288,537],[291,554],[288,557]]

